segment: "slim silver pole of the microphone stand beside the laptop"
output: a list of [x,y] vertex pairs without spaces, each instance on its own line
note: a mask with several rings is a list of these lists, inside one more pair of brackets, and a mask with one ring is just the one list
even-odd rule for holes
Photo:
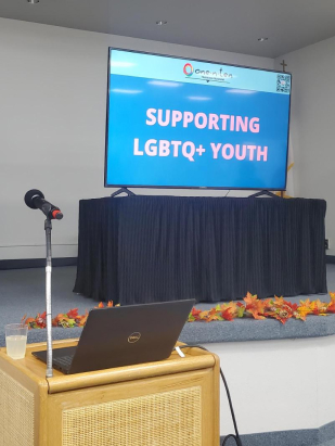
[[46,263],[46,304],[47,304],[47,378],[53,377],[52,371],[52,320],[51,320],[51,219],[44,221],[47,263]]

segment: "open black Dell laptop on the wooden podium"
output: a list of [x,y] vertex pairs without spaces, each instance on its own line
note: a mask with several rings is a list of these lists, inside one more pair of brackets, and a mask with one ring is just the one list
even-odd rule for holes
[[[78,345],[52,351],[52,366],[72,374],[166,359],[194,303],[188,300],[94,308]],[[33,355],[47,362],[47,351]]]

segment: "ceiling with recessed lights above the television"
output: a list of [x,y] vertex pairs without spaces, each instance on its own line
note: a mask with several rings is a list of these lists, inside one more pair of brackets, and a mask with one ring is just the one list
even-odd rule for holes
[[0,17],[268,58],[335,36],[335,0],[0,0]]

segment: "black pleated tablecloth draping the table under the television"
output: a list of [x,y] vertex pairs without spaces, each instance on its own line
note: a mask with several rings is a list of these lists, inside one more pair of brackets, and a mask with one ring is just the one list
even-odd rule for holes
[[323,200],[82,200],[74,291],[132,304],[326,292]]

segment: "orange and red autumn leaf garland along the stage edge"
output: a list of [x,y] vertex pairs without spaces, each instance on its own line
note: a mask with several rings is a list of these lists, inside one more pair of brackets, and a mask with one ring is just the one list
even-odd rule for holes
[[[335,314],[335,293],[330,293],[331,302],[317,301],[300,301],[299,304],[293,304],[285,301],[284,297],[274,296],[274,298],[259,300],[257,295],[247,293],[242,302],[230,302],[228,304],[219,304],[208,310],[192,308],[188,322],[211,322],[215,320],[231,321],[236,318],[254,318],[266,319],[272,318],[285,323],[288,319],[306,320],[308,315],[328,316]],[[106,307],[113,307],[113,302],[109,301]],[[116,306],[119,306],[116,305]],[[95,308],[104,308],[101,302]],[[52,319],[52,327],[83,327],[88,318],[88,310],[85,315],[78,315],[78,308],[73,308],[66,314],[59,314]],[[47,327],[47,314],[38,314],[35,318],[27,318],[26,315],[22,318],[22,322],[26,323],[29,329],[44,329]]]

